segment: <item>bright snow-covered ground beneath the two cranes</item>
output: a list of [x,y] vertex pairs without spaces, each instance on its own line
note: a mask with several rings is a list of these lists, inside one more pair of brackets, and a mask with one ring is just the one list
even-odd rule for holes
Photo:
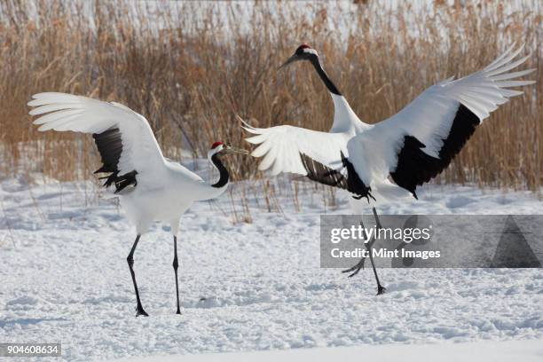
[[[135,270],[150,317],[134,318],[126,256],[135,235],[115,203],[97,204],[91,183],[1,180],[0,342],[62,342],[68,360],[310,347],[324,349],[219,356],[303,360],[350,353],[359,360],[389,353],[388,360],[396,360],[406,355],[402,350],[424,356],[456,350],[467,361],[486,359],[475,350],[501,355],[501,348],[529,355],[510,355],[513,360],[541,358],[540,269],[382,269],[388,293],[375,296],[371,270],[347,279],[319,268],[322,197],[300,193],[300,212],[287,196],[278,196],[282,212],[266,212],[263,200],[252,200],[253,222],[235,224],[228,211],[239,202],[239,187],[232,187],[233,201],[224,195],[195,204],[181,220],[183,315],[175,314],[168,230],[155,224],[142,237]],[[420,198],[380,211],[543,213],[533,193],[433,185]],[[340,201],[327,212],[349,213]],[[417,346],[374,346],[390,343]],[[334,348],[344,346],[350,347]]]

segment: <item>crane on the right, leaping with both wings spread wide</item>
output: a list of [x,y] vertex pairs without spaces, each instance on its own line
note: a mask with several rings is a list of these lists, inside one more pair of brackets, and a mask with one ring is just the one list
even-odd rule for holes
[[[460,152],[483,120],[508,98],[523,94],[509,87],[533,81],[512,80],[535,69],[511,72],[530,57],[515,58],[523,46],[513,44],[488,67],[456,81],[437,83],[397,114],[376,124],[361,122],[349,103],[328,78],[317,51],[299,46],[285,67],[299,60],[311,62],[334,101],[334,122],[329,132],[288,125],[244,129],[254,134],[246,140],[258,145],[251,153],[264,156],[259,169],[271,174],[291,172],[332,185],[365,198],[374,205],[400,197],[417,198],[416,187],[436,177]],[[367,246],[367,244],[366,244]],[[371,247],[371,244],[369,245]],[[369,248],[369,247],[368,247]],[[370,253],[372,256],[372,253]],[[370,258],[371,259],[371,258]],[[372,266],[374,267],[374,261]],[[355,275],[364,259],[347,272]],[[374,267],[377,294],[384,293]]]

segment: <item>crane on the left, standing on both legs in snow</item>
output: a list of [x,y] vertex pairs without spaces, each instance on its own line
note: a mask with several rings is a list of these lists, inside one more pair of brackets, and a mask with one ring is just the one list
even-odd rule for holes
[[38,130],[92,133],[103,163],[95,173],[107,174],[101,177],[106,179],[104,185],[114,186],[122,209],[136,226],[137,236],[127,262],[136,292],[137,316],[148,314],[139,299],[134,252],[153,221],[169,223],[174,239],[177,314],[181,314],[177,281],[179,219],[194,201],[214,199],[226,191],[229,173],[221,161],[224,154],[247,152],[214,143],[208,159],[219,171],[219,179],[209,185],[180,163],[164,158],[146,118],[127,106],[55,92],[35,94],[33,98],[28,106],[36,107],[30,114],[39,115],[34,121],[40,125]]

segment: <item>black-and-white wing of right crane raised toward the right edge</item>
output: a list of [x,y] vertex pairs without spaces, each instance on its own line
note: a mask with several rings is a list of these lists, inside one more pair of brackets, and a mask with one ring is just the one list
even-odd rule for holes
[[358,176],[366,185],[390,176],[416,197],[417,185],[445,169],[484,118],[523,94],[508,87],[535,83],[511,80],[535,69],[507,73],[530,57],[514,60],[522,50],[511,47],[483,70],[429,87],[397,114],[351,138],[347,148]]

